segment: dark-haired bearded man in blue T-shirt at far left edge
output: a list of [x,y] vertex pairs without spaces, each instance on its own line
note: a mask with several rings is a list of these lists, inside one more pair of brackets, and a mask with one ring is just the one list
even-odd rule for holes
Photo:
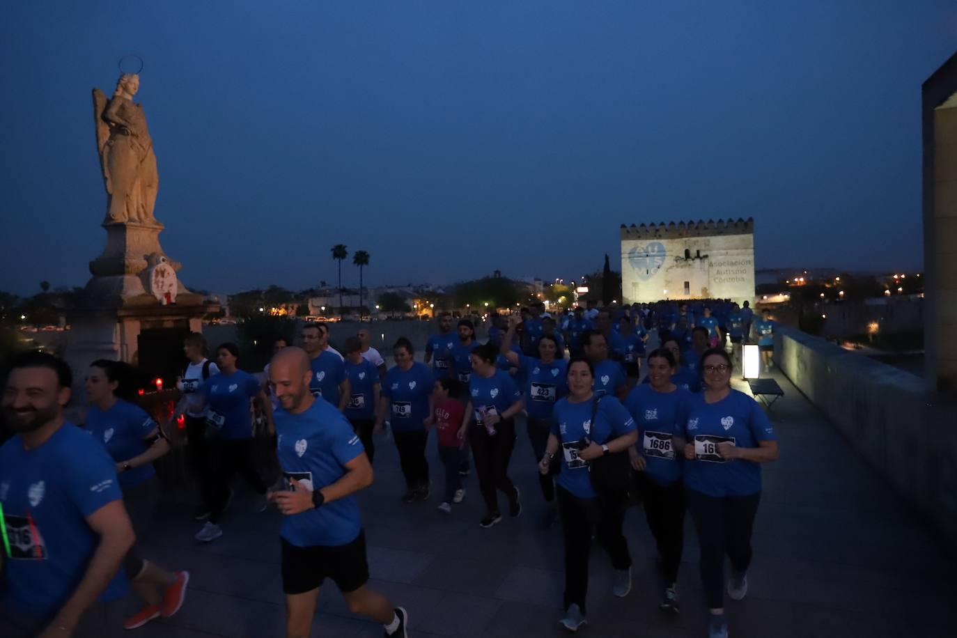
[[100,627],[103,613],[80,619],[126,593],[120,566],[133,528],[113,460],[63,418],[72,377],[49,354],[11,362],[3,409],[14,434],[0,447],[0,520],[9,542],[0,551],[5,637],[69,636],[78,626],[105,635],[115,627]]

